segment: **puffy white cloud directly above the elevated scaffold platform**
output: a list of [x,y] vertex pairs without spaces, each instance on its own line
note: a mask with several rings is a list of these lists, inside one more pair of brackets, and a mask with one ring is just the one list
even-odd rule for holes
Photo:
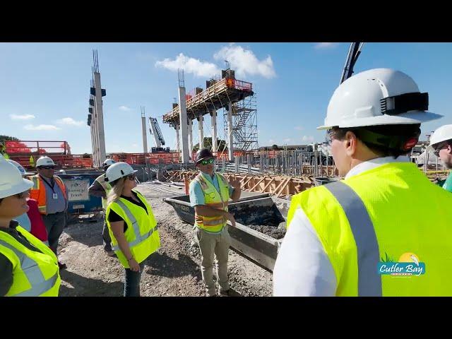
[[231,68],[236,70],[237,77],[263,76],[264,78],[273,78],[276,76],[273,69],[273,61],[268,55],[266,59],[259,60],[253,51],[243,49],[241,46],[230,44],[222,47],[213,55],[215,60],[227,60],[230,62]]

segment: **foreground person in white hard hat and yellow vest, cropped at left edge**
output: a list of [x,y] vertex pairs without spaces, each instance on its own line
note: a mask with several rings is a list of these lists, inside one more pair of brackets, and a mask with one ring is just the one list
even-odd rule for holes
[[27,212],[32,186],[14,165],[0,159],[0,296],[58,296],[57,256],[13,220]]

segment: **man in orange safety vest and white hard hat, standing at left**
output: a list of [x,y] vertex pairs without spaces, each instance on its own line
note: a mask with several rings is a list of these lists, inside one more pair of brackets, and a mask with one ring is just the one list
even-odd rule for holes
[[[54,175],[55,163],[47,156],[36,161],[37,174],[30,177],[33,187],[30,197],[37,201],[49,239],[49,246],[57,254],[58,239],[66,226],[68,201],[66,186],[63,180]],[[60,270],[66,268],[65,263],[58,263]]]

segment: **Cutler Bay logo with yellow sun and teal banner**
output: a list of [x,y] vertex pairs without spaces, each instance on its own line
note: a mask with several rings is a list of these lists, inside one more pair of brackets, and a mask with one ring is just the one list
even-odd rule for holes
[[386,253],[385,256],[386,258],[381,258],[378,264],[379,274],[398,276],[425,274],[425,263],[422,263],[414,253],[404,253],[398,258],[398,261],[391,259]]

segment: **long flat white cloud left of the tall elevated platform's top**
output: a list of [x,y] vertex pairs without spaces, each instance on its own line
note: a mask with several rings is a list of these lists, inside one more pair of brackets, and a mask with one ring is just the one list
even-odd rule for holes
[[169,71],[177,71],[177,69],[184,69],[184,73],[192,73],[194,76],[210,77],[220,73],[217,65],[207,61],[186,57],[180,53],[174,60],[166,58],[162,61],[157,61],[155,67],[162,67],[169,69]]

